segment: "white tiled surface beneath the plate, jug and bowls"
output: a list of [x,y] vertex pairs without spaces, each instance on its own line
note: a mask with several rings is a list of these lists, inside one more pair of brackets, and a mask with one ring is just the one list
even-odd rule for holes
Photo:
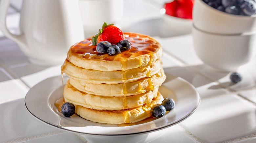
[[[147,34],[163,47],[163,68],[194,85],[201,96],[196,112],[178,125],[143,135],[138,143],[256,142],[256,59],[241,67],[243,80],[232,84],[229,72],[214,71],[196,56],[192,36],[172,31],[159,14],[166,0],[124,0],[123,31]],[[12,0],[8,28],[16,33],[22,0]],[[136,9],[136,10],[130,10]],[[38,82],[60,75],[60,65],[40,67],[28,62],[18,45],[0,32],[0,142],[84,142],[91,138],[65,132],[33,118],[24,97]],[[112,140],[113,138],[107,138]],[[98,142],[104,142],[105,139]],[[129,140],[128,140],[129,141]]]

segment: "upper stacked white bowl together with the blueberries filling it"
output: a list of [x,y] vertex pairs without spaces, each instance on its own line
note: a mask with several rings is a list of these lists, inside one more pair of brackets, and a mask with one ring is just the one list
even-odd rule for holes
[[195,0],[193,25],[215,34],[241,34],[256,30],[255,0]]

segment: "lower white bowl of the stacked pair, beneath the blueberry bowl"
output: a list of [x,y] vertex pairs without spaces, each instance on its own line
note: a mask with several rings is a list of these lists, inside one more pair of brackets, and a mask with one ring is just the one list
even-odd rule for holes
[[218,71],[236,71],[255,57],[256,32],[238,35],[206,33],[192,26],[198,57]]

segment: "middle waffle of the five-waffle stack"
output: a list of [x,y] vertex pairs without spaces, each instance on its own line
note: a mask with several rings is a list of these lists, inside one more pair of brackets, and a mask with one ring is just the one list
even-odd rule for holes
[[166,76],[163,69],[151,77],[141,78],[134,82],[119,84],[92,84],[81,80],[70,78],[70,84],[76,89],[104,97],[123,97],[145,93],[149,90],[158,88]]

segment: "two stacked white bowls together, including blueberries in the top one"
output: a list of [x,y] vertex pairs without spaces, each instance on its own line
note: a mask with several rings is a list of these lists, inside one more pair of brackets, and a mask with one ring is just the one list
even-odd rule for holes
[[196,0],[192,37],[197,56],[218,71],[236,71],[256,55],[254,0]]

